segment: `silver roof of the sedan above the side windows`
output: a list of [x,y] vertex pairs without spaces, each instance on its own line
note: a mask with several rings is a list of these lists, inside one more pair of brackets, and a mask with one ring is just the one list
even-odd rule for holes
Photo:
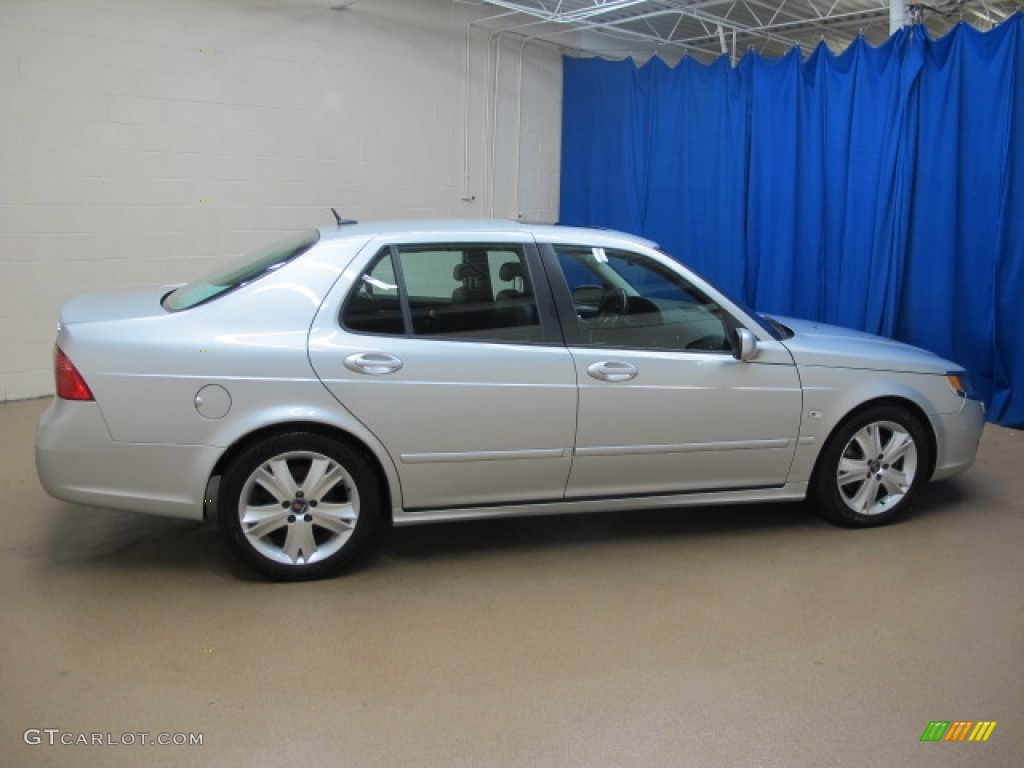
[[412,234],[438,236],[451,232],[453,237],[469,234],[532,234],[542,241],[622,243],[624,245],[657,248],[644,238],[613,229],[585,226],[563,226],[560,224],[529,224],[509,219],[407,219],[393,221],[367,221],[337,226],[321,227],[322,240],[343,240],[347,238],[377,238],[388,236],[408,237]]

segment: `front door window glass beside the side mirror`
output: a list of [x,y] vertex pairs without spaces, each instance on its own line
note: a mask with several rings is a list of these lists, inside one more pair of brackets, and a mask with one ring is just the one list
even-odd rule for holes
[[689,281],[641,254],[554,246],[585,344],[729,351],[734,321]]

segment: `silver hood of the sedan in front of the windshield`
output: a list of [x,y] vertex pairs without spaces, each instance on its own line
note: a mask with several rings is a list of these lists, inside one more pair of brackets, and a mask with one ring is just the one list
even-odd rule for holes
[[[773,315],[774,316],[774,315]],[[782,343],[798,366],[946,374],[962,367],[919,347],[862,331],[794,317],[776,317],[794,332]]]

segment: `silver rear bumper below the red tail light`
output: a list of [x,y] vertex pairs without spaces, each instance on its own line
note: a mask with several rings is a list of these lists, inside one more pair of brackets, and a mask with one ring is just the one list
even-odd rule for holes
[[76,504],[203,518],[219,449],[115,442],[95,402],[56,398],[36,433],[36,471],[50,496]]

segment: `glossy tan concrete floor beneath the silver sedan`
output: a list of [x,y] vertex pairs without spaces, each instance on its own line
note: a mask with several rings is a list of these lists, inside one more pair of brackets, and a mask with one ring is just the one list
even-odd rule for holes
[[[987,428],[888,528],[800,505],[404,528],[278,585],[214,525],[46,497],[46,404],[0,406],[0,766],[1024,761],[1022,432]],[[998,725],[922,743],[932,720]],[[203,743],[59,743],[140,732]]]

